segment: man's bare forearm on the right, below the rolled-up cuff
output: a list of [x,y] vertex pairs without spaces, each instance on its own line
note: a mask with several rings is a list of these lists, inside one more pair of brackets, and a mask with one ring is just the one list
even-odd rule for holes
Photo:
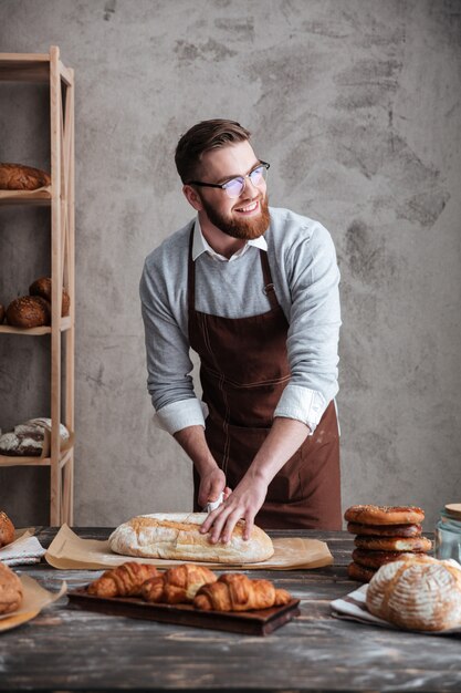
[[295,418],[277,416],[261,445],[247,475],[263,480],[268,486],[283,465],[294,455],[310,434],[310,427]]

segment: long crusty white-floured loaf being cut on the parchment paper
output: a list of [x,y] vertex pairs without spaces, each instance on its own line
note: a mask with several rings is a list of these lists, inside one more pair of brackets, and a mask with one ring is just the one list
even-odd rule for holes
[[273,555],[272,540],[260,527],[243,540],[243,520],[237,523],[229,544],[211,544],[209,535],[199,531],[206,517],[205,513],[140,515],[112,532],[109,547],[122,556],[217,563],[253,563]]

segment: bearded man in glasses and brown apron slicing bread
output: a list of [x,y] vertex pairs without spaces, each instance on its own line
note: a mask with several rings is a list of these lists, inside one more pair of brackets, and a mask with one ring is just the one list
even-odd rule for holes
[[[176,166],[197,215],[146,259],[148,390],[159,425],[193,462],[201,530],[340,529],[334,397],[340,325],[328,231],[268,206],[269,164],[239,123],[198,123]],[[193,391],[189,349],[200,359]]]

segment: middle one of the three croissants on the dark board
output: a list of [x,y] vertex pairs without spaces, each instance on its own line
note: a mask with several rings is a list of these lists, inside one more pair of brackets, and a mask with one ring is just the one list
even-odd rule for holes
[[163,575],[150,578],[142,588],[142,597],[149,602],[179,604],[192,602],[203,585],[217,581],[217,576],[205,566],[184,563],[168,568]]

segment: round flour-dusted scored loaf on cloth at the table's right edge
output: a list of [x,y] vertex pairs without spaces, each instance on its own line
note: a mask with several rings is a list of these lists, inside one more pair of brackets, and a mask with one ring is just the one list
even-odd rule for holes
[[441,631],[461,625],[461,568],[450,560],[404,556],[379,568],[368,585],[374,614],[409,630]]

